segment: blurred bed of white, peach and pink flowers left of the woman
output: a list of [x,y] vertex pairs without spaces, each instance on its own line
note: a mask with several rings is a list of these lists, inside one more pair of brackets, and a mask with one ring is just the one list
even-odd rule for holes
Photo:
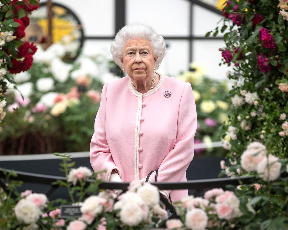
[[65,54],[60,44],[38,47],[31,69],[13,76],[23,98],[6,82],[0,154],[89,150],[101,89],[118,77],[103,69],[105,63],[100,69],[97,57],[81,55],[71,64],[62,61]]

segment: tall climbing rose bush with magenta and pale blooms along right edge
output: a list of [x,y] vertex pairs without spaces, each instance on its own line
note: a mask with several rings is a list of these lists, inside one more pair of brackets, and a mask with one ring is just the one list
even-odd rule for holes
[[[229,78],[229,121],[223,127],[221,175],[254,175],[258,183],[235,194],[255,210],[247,229],[286,229],[287,224],[287,1],[229,0],[222,10],[226,47],[222,63]],[[216,36],[219,27],[215,29]],[[206,36],[209,36],[209,31]]]

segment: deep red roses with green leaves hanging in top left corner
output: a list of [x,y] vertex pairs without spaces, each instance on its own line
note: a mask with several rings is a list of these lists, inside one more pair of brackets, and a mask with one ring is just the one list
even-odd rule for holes
[[7,82],[14,83],[10,73],[28,70],[33,62],[33,54],[37,48],[33,43],[22,42],[25,28],[29,25],[28,14],[39,7],[37,0],[1,1],[0,4],[0,123],[6,112],[5,92]]

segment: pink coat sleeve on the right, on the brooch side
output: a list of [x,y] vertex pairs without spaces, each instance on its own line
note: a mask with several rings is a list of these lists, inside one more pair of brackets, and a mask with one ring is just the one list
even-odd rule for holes
[[[197,114],[191,84],[186,83],[178,112],[177,136],[174,148],[168,152],[158,169],[157,182],[180,181],[194,156],[194,136]],[[149,180],[155,180],[155,172]],[[168,197],[171,190],[160,191]]]

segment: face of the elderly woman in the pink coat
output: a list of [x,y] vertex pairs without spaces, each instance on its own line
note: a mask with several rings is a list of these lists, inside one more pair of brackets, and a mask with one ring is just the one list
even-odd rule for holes
[[124,47],[121,61],[128,76],[137,81],[152,76],[157,57],[154,57],[152,47],[148,41],[132,39]]

